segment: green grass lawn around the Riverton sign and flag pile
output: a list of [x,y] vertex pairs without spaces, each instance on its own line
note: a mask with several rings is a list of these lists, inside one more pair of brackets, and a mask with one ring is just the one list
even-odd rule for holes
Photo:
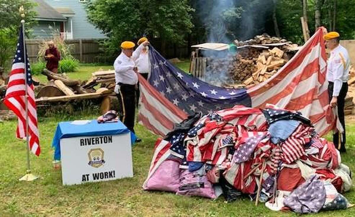
[[[71,78],[87,79],[101,66],[83,66]],[[109,69],[111,66],[107,66]],[[90,71],[90,72],[89,72]],[[78,74],[78,75],[75,75]],[[89,110],[89,109],[88,109]],[[133,178],[64,187],[61,171],[53,168],[51,140],[60,121],[94,119],[98,111],[78,111],[74,115],[39,117],[39,157],[31,154],[32,172],[39,176],[33,182],[19,182],[26,172],[26,147],[15,138],[16,121],[0,122],[0,216],[298,216],[292,212],[273,212],[264,204],[255,207],[248,198],[225,203],[224,198],[177,196],[173,193],[143,191],[157,136],[136,124],[143,139],[132,149]],[[355,124],[347,126],[348,152],[342,161],[355,171]],[[329,138],[329,136],[327,137]],[[122,165],[124,166],[124,165]],[[344,194],[355,203],[355,192]],[[342,211],[320,212],[307,216],[355,216],[355,207]]]

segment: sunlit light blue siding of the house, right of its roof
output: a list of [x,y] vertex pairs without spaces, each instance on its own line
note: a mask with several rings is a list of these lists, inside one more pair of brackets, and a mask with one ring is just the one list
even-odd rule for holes
[[[45,2],[52,7],[69,7],[75,12],[72,17],[74,39],[106,38],[99,29],[88,22],[85,4],[80,3],[79,0],[45,0]],[[65,31],[70,32],[70,21],[65,23]]]

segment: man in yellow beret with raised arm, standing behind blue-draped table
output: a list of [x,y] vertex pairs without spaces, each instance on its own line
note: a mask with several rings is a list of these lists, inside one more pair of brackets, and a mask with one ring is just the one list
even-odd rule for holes
[[[137,88],[138,76],[137,66],[135,61],[138,59],[144,46],[149,44],[148,41],[143,42],[138,46],[135,52],[133,48],[135,43],[132,41],[124,41],[121,43],[121,54],[116,58],[113,66],[115,69],[115,93],[121,103],[121,121],[134,131],[134,117],[136,112],[135,92]],[[137,137],[136,142],[141,141]]]

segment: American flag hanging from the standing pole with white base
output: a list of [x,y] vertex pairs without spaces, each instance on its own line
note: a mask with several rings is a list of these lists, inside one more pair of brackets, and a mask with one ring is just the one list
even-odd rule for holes
[[[37,110],[34,97],[34,87],[31,77],[31,69],[29,67],[29,60],[27,54],[24,54],[23,48],[23,34],[22,27],[20,28],[20,35],[18,38],[17,49],[15,57],[13,58],[11,74],[7,90],[5,94],[4,104],[12,110],[18,120],[16,136],[17,138],[26,138],[26,94],[25,94],[25,79],[27,79],[28,91],[28,136],[29,149],[33,154],[39,156],[41,150],[39,147],[39,135],[37,127]],[[27,59],[25,65],[24,60]],[[26,67],[26,71],[25,71]],[[27,73],[26,73],[27,72]]]

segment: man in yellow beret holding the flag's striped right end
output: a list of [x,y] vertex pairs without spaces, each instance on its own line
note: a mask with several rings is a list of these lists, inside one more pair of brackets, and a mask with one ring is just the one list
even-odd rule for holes
[[[345,152],[345,118],[344,104],[348,92],[348,78],[350,71],[350,58],[348,51],[339,44],[340,35],[337,32],[329,32],[323,36],[330,56],[327,62],[327,79],[329,103],[331,107],[338,106],[338,117],[342,123],[344,132],[339,139],[339,133],[333,134],[333,142],[340,152]],[[340,144],[339,144],[340,140]]]

